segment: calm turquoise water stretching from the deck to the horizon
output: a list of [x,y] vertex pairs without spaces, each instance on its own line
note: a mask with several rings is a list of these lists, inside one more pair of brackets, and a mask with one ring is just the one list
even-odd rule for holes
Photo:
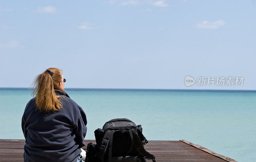
[[[236,161],[256,159],[255,91],[66,89],[87,115],[85,139],[113,118],[141,124],[148,140],[185,139]],[[27,89],[0,89],[0,139],[24,139]]]

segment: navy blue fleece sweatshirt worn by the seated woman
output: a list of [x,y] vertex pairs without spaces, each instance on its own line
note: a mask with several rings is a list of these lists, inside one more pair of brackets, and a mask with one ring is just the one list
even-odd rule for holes
[[24,161],[76,161],[85,146],[87,120],[83,109],[63,91],[55,91],[62,99],[58,111],[36,110],[35,98],[28,101],[21,127],[26,139]]

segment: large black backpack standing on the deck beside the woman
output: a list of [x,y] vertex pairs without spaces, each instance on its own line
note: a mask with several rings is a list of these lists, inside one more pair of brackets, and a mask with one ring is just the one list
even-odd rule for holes
[[94,131],[96,145],[87,145],[85,162],[146,162],[155,161],[155,156],[144,149],[147,139],[142,134],[141,125],[129,119],[112,119],[103,128]]

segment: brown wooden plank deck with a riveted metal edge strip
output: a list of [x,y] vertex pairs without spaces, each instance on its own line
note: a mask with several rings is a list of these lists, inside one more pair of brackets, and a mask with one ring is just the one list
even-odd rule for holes
[[[84,140],[85,144],[95,140]],[[23,161],[23,146],[25,140],[0,139],[0,161]],[[86,150],[86,147],[83,147]],[[221,162],[232,161],[234,159],[219,155],[204,147],[192,144],[185,140],[180,141],[149,141],[145,149],[155,155],[157,162],[177,161],[177,162]],[[147,160],[152,161],[152,160]]]

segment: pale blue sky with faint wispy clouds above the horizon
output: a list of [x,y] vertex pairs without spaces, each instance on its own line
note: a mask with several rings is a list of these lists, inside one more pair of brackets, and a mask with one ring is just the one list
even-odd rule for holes
[[255,0],[1,0],[0,87],[57,67],[66,88],[256,90],[255,16]]

